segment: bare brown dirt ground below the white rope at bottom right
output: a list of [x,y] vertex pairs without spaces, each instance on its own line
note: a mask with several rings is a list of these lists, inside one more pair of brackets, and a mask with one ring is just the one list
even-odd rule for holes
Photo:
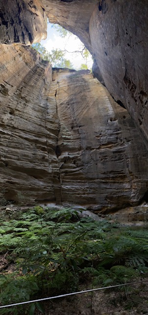
[[59,298],[43,305],[46,315],[148,315],[148,282]]

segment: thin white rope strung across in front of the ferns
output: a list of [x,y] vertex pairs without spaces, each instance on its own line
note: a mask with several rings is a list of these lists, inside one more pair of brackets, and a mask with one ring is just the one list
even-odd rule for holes
[[8,305],[0,306],[0,309],[4,309],[5,307],[10,307],[10,306],[17,306],[17,305],[23,305],[23,304],[27,304],[27,303],[46,301],[46,300],[57,299],[59,297],[65,297],[65,296],[70,296],[70,295],[74,295],[74,294],[80,294],[80,293],[92,292],[92,291],[97,291],[97,290],[110,289],[110,288],[113,288],[113,287],[118,287],[118,286],[123,286],[123,285],[130,285],[130,284],[139,284],[139,283],[144,283],[144,282],[148,282],[148,280],[129,282],[127,284],[116,284],[116,285],[110,285],[110,286],[103,286],[103,287],[99,287],[97,289],[89,289],[89,290],[84,290],[84,291],[78,291],[78,292],[73,292],[73,293],[67,293],[67,294],[62,294],[62,295],[57,295],[57,296],[46,297],[44,299],[38,299],[38,300],[31,300],[31,301],[27,301],[27,302],[8,304]]

